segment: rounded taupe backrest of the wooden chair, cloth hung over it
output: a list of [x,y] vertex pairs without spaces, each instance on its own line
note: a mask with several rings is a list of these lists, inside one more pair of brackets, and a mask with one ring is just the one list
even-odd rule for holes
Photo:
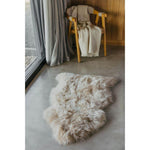
[[78,22],[89,22],[90,13],[93,13],[94,8],[88,5],[77,5],[67,9],[69,16],[77,18]]

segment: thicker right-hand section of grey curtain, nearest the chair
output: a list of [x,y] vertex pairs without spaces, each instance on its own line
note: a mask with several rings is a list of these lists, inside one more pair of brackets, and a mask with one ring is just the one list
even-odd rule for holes
[[46,61],[51,66],[69,61],[73,51],[67,39],[66,0],[43,0]]

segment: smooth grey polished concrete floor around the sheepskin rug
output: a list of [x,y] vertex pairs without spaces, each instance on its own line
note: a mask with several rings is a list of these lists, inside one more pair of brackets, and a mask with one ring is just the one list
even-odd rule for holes
[[[102,53],[102,52],[101,52]],[[113,88],[114,103],[105,112],[107,124],[85,142],[59,145],[42,118],[49,106],[49,94],[60,72],[114,76],[120,82]],[[76,59],[57,67],[45,65],[26,89],[26,150],[124,150],[125,94],[124,47],[108,47],[108,56]]]

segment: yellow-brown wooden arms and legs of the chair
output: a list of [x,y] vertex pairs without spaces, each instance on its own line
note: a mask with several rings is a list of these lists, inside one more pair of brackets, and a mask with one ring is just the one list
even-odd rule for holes
[[[106,53],[106,26],[105,26],[105,18],[107,17],[106,13],[98,12],[96,10],[93,11],[93,14],[96,15],[95,24],[98,25],[99,17],[102,18],[102,34],[104,34],[104,56],[107,55]],[[76,47],[77,47],[77,57],[78,57],[78,63],[80,63],[80,48],[79,48],[79,40],[78,40],[78,30],[77,30],[77,18],[70,17],[67,14],[67,18],[69,20],[69,37],[71,34],[75,34],[76,38]],[[74,25],[74,28],[72,29],[72,23]]]

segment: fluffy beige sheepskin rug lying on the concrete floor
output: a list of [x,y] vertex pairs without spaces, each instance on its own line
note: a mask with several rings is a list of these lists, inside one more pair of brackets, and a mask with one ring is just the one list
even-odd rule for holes
[[59,144],[83,141],[106,123],[103,109],[113,102],[110,87],[117,79],[60,73],[56,80],[58,84],[51,91],[51,106],[44,111],[44,119]]

